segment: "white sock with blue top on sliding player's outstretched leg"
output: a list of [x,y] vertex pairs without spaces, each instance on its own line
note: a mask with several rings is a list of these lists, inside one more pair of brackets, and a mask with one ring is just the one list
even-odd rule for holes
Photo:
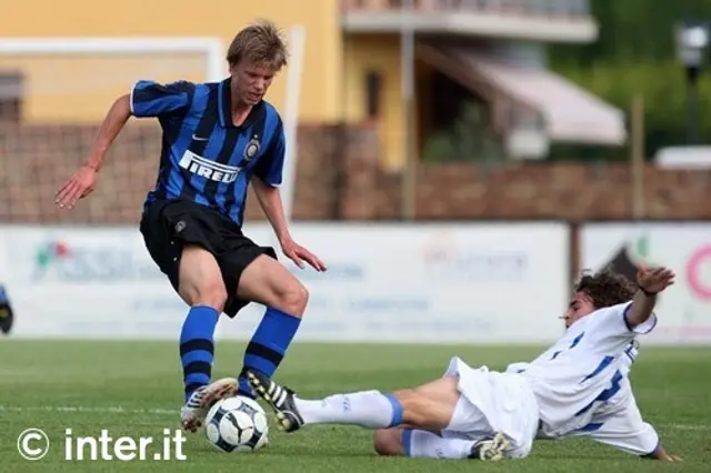
[[402,405],[392,394],[361,391],[334,394],[320,401],[294,397],[304,424],[349,424],[387,429],[402,422]]

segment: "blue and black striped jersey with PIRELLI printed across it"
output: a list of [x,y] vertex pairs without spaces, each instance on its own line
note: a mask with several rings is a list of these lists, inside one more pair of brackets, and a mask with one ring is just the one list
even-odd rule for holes
[[261,101],[240,127],[233,125],[230,81],[139,81],[133,87],[131,114],[158,118],[163,130],[158,179],[147,204],[190,199],[241,225],[251,177],[281,184],[286,149],[281,118]]

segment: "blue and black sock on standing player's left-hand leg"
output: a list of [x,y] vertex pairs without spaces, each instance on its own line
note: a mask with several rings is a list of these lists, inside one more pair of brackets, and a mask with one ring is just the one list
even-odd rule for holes
[[190,309],[180,332],[180,361],[182,363],[186,401],[200,386],[210,383],[214,358],[214,329],[220,313],[207,305]]

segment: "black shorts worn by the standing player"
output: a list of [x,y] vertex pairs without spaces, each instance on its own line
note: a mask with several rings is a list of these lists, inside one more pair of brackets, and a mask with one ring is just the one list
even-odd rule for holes
[[178,292],[180,256],[186,244],[204,248],[216,258],[227,289],[224,313],[230,318],[252,301],[237,298],[242,271],[260,254],[277,259],[270,246],[259,246],[219,211],[189,200],[152,202],[143,212],[141,233],[158,268]]

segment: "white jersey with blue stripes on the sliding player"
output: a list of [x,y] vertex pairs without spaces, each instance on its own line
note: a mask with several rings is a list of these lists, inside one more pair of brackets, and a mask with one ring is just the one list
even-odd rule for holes
[[627,380],[630,343],[654,328],[657,315],[630,330],[625,319],[630,306],[627,302],[578,320],[521,372],[539,404],[543,436],[590,430],[599,407],[620,395],[623,386],[631,396]]

